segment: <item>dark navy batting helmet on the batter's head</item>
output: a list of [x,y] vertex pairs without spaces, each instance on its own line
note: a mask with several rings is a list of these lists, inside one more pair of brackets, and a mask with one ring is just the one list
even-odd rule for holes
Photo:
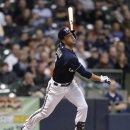
[[72,33],[73,34],[73,36],[75,37],[75,39],[76,39],[76,35],[75,35],[75,30],[70,30],[68,27],[64,27],[64,28],[62,28],[60,31],[59,31],[59,33],[58,33],[58,38],[59,38],[59,40],[62,40],[66,35],[68,35],[69,33]]

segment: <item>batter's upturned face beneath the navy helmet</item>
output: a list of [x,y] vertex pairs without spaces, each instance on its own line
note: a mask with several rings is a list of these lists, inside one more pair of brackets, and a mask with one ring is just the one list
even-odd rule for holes
[[68,46],[72,46],[75,44],[76,42],[76,39],[75,37],[73,36],[72,33],[69,33],[68,35],[66,35],[63,39],[63,42],[68,45]]

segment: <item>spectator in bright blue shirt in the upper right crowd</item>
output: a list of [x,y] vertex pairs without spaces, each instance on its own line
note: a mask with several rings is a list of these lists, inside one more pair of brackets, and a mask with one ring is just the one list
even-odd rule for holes
[[112,24],[111,36],[119,39],[122,38],[123,33],[120,31],[120,24],[118,22]]

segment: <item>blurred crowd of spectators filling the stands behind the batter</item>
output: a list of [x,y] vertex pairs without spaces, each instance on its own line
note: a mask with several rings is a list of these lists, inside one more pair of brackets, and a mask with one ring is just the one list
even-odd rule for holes
[[[129,1],[128,1],[129,3]],[[85,68],[130,73],[130,9],[127,0],[3,0],[0,48],[11,51],[0,66],[0,82],[22,80],[16,95],[45,93],[53,75],[58,31],[69,27],[74,8],[74,51]],[[28,87],[27,87],[28,86]],[[27,90],[28,88],[28,90]]]

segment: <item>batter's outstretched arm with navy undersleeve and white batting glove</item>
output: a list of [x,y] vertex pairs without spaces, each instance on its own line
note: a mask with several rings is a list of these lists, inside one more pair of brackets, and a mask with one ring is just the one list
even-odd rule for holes
[[87,71],[82,65],[80,65],[80,67],[77,69],[77,72],[80,75],[82,75],[83,77],[88,78],[88,79],[90,79],[92,81],[105,82],[105,83],[108,83],[108,84],[111,83],[110,79],[107,76],[95,75],[95,74]]

